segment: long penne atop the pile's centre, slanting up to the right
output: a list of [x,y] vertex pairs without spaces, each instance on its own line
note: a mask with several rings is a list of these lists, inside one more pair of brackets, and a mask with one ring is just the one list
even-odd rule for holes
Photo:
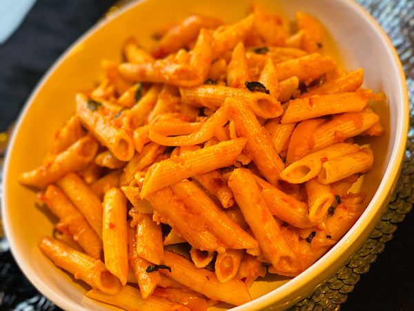
[[152,164],[144,178],[141,199],[182,179],[232,165],[245,144],[244,138],[221,141],[217,145]]

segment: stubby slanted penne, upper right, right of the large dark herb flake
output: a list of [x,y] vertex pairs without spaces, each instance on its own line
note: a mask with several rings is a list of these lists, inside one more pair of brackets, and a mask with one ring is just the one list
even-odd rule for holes
[[306,84],[322,77],[327,72],[335,70],[335,61],[328,56],[319,53],[308,54],[303,57],[275,63],[277,78],[279,81],[296,76],[299,81]]

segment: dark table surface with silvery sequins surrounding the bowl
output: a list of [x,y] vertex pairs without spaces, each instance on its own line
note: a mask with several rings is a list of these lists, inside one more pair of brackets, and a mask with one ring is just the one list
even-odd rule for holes
[[[115,2],[37,0],[17,31],[0,45],[0,132],[7,130],[17,118],[30,92],[57,57]],[[371,240],[375,244],[364,245],[355,260],[344,267],[345,272],[351,270],[357,278],[344,287],[344,284],[335,285],[338,278],[334,276],[332,283],[322,286],[327,290],[302,302],[302,310],[414,310],[414,212],[409,212],[414,202],[411,168],[414,164],[411,155],[414,150],[414,1],[357,0],[357,3],[380,23],[403,63],[411,111],[406,159],[388,214],[373,232]],[[403,207],[400,203],[404,203]],[[366,260],[366,254],[370,261]],[[360,265],[354,263],[361,259],[365,261],[364,269],[358,270]],[[334,285],[342,286],[342,290],[335,292]],[[292,308],[299,309],[300,304]],[[5,239],[0,240],[0,310],[58,310],[21,274]]]

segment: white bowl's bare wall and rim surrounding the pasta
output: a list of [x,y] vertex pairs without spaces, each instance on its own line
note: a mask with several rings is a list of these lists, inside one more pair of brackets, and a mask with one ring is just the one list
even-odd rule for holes
[[[375,168],[364,179],[371,199],[366,212],[346,236],[315,265],[288,281],[260,281],[251,290],[255,299],[235,310],[258,310],[274,303],[272,310],[286,308],[308,294],[357,250],[386,208],[402,161],[408,128],[408,99],[404,74],[397,54],[379,26],[355,3],[347,0],[259,1],[269,10],[293,19],[302,10],[317,17],[329,32],[326,52],[339,57],[344,68],[364,68],[364,86],[384,91],[388,99],[374,110],[380,114],[386,134],[374,138]],[[64,310],[108,310],[83,299],[85,288],[55,268],[37,248],[43,235],[50,235],[48,213],[35,205],[36,194],[19,185],[17,175],[36,167],[48,150],[52,135],[75,110],[74,96],[97,81],[102,59],[120,59],[121,45],[133,35],[151,46],[152,31],[168,21],[192,12],[220,17],[226,22],[246,16],[250,1],[147,0],[120,10],[79,39],[55,63],[23,108],[12,137],[3,176],[2,215],[12,254],[28,279]],[[127,10],[128,9],[128,10]],[[150,17],[150,18],[148,18]],[[264,295],[264,296],[263,296]]]

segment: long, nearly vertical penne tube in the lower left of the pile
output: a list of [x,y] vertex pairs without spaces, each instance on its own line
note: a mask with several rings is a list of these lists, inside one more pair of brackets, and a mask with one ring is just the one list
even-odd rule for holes
[[122,285],[128,279],[128,248],[126,230],[126,197],[118,188],[105,193],[103,208],[103,257],[105,265],[116,275]]

